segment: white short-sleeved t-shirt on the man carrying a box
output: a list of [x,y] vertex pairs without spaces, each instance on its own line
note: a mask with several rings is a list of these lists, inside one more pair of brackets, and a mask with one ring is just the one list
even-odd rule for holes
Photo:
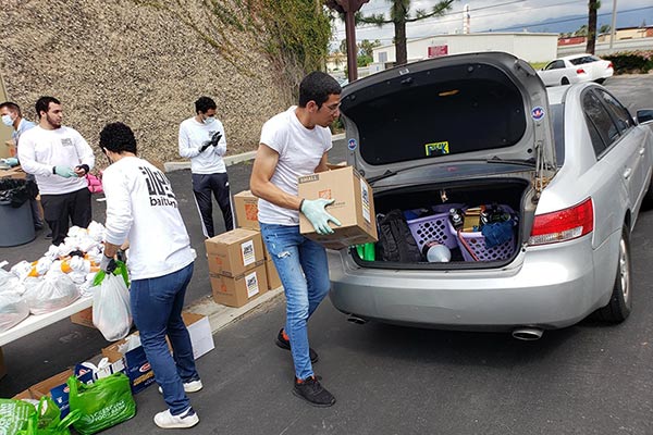
[[[273,185],[289,195],[297,195],[297,178],[312,174],[331,145],[331,130],[316,125],[306,128],[295,113],[296,105],[279,113],[263,124],[261,144],[279,152]],[[259,199],[258,217],[264,224],[299,225],[299,212]]]

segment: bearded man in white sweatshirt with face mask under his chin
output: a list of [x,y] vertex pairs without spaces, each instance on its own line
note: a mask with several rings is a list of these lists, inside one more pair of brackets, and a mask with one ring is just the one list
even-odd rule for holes
[[52,245],[59,246],[70,222],[82,228],[90,223],[86,174],[95,164],[95,156],[76,129],[61,124],[63,112],[57,98],[39,98],[36,113],[39,123],[21,136],[19,160],[23,171],[36,177]]

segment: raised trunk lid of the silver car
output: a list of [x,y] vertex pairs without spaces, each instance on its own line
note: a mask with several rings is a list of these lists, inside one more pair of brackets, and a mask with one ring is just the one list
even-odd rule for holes
[[531,171],[539,196],[555,174],[546,88],[512,54],[447,55],[394,67],[349,84],[341,99],[349,163],[372,185],[404,184],[407,172],[433,165],[441,167],[439,181],[459,178],[452,167],[486,164],[490,173],[497,166]]

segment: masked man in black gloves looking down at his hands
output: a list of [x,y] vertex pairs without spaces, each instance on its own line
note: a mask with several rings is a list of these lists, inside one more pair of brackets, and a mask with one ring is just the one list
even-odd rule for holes
[[222,160],[226,139],[222,123],[215,119],[215,101],[200,97],[195,101],[195,116],[180,125],[180,156],[190,159],[193,192],[207,238],[215,235],[211,195],[220,206],[226,231],[234,228],[229,177]]

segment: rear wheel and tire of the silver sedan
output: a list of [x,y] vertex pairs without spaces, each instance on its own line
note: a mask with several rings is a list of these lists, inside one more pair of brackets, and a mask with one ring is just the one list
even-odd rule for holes
[[617,276],[609,302],[596,311],[596,318],[604,322],[620,323],[628,319],[632,309],[632,270],[630,265],[630,232],[621,228]]

